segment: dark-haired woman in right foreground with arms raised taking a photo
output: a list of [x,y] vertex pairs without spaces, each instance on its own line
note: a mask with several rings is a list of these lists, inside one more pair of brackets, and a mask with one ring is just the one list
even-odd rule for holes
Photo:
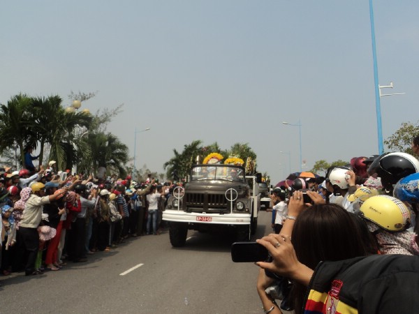
[[[293,249],[295,248],[293,261],[299,265],[299,274],[297,275],[300,276],[295,278],[295,274],[278,271],[275,254],[272,255],[274,258],[272,262],[256,263],[263,269],[270,271],[270,273],[266,273],[261,269],[258,276],[257,290],[264,311],[271,310],[272,313],[281,313],[277,304],[274,303],[274,299],[265,292],[267,285],[273,281],[272,277],[275,278],[272,273],[294,281],[293,308],[295,308],[296,313],[300,313],[304,305],[305,287],[307,287],[309,278],[311,278],[313,269],[316,268],[318,262],[322,260],[345,260],[376,252],[365,246],[365,239],[362,239],[363,233],[361,231],[362,220],[355,220],[355,215],[337,204],[324,204],[323,198],[316,192],[307,191],[307,195],[314,202],[309,210],[304,210],[307,204],[303,203],[302,192],[295,191],[290,198],[288,216],[286,216],[280,234],[271,234],[258,240],[258,243],[267,248],[272,246],[273,249],[281,248],[284,242],[293,245]],[[365,225],[363,225],[363,228],[365,228]],[[351,232],[351,237],[348,237],[348,232]],[[330,236],[331,234],[333,236]],[[278,241],[278,239],[281,239],[281,241]],[[293,239],[293,244],[291,244],[291,239]],[[301,278],[303,277],[304,282],[302,283]]]

